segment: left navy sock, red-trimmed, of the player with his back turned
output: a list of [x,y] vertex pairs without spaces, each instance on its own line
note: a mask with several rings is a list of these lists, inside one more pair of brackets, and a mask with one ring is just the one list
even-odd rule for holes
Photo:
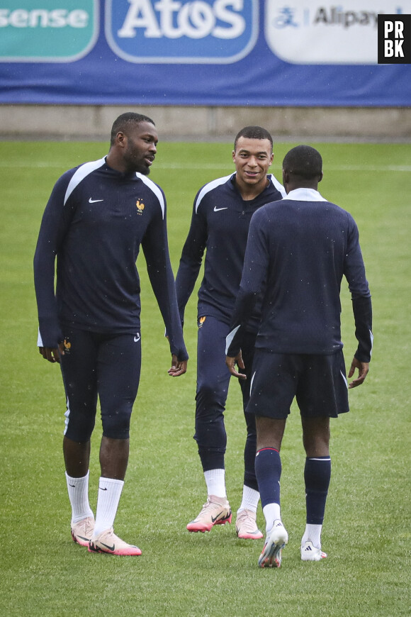
[[275,448],[261,448],[255,458],[255,472],[259,485],[261,508],[280,503],[280,452]]

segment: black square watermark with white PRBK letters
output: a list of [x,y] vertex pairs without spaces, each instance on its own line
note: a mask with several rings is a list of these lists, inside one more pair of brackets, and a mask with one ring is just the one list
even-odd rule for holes
[[411,15],[378,15],[378,64],[411,64]]

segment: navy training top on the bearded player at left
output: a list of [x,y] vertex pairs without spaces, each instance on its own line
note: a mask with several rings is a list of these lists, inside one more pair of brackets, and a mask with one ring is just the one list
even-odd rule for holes
[[41,346],[57,348],[62,324],[100,333],[140,330],[140,245],[171,353],[187,359],[164,192],[145,175],[108,167],[105,157],[65,172],[45,208],[34,257]]

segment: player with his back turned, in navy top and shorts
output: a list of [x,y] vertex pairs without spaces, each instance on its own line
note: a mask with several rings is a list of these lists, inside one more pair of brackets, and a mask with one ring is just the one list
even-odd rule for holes
[[[252,217],[227,336],[230,373],[246,379],[252,372],[247,412],[256,418],[255,469],[266,518],[260,567],[279,567],[288,541],[280,513],[280,448],[294,397],[306,455],[301,559],[327,557],[321,531],[331,476],[330,418],[349,411],[348,388],[364,382],[371,360],[371,294],[358,228],[347,211],[321,196],[321,179],[320,152],[308,145],[288,152],[283,160],[286,199],[263,206]],[[348,373],[351,378],[358,370],[358,377],[349,384],[340,324],[343,276],[351,291],[358,340]],[[266,290],[261,325],[252,367],[247,367],[241,350],[247,347],[247,323],[261,289]]]

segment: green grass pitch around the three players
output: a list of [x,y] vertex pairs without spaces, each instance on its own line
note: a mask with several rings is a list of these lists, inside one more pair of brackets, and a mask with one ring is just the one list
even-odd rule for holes
[[[296,143],[277,143],[271,168]],[[373,295],[375,347],[351,412],[332,421],[332,481],[322,545],[329,557],[300,561],[305,526],[304,453],[298,411],[281,452],[282,513],[290,536],[279,570],[261,570],[261,541],[239,540],[234,521],[191,534],[205,501],[193,441],[196,293],[186,312],[191,360],[167,375],[164,326],[139,257],[143,366],[116,532],[141,557],[91,555],[69,533],[62,460],[64,393],[59,368],[36,347],[33,252],[57,177],[97,159],[108,143],[0,143],[0,616],[398,617],[410,601],[410,192],[411,146],[313,143],[322,153],[327,199],[359,225]],[[197,189],[233,170],[230,143],[159,143],[150,177],[164,188],[174,273]],[[347,363],[355,350],[351,301],[342,287]],[[240,388],[227,401],[227,493],[240,505],[244,420]],[[97,424],[91,505],[98,482]],[[234,518],[234,517],[233,517]],[[259,526],[264,529],[261,508]]]

